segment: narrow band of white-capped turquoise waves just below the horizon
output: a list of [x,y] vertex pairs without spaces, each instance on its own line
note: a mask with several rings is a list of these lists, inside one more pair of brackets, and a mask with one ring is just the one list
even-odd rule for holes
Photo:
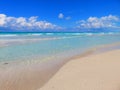
[[94,36],[94,35],[118,35],[120,33],[108,32],[108,33],[15,33],[15,34],[0,34],[0,37],[27,37],[27,36],[60,36],[60,37],[69,37],[69,36]]

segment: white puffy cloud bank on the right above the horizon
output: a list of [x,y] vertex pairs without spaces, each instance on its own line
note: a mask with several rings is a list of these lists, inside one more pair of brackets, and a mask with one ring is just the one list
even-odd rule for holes
[[113,15],[103,17],[89,17],[87,20],[80,20],[79,28],[115,28],[120,18]]

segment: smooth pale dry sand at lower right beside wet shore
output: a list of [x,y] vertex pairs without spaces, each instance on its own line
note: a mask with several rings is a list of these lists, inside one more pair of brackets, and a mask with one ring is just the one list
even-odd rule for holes
[[71,60],[38,90],[120,90],[120,50]]

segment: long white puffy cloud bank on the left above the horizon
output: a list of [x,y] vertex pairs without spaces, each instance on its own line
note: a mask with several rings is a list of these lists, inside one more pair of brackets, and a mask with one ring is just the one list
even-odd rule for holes
[[61,27],[47,21],[39,21],[38,17],[11,17],[0,14],[0,27],[10,29],[60,29]]

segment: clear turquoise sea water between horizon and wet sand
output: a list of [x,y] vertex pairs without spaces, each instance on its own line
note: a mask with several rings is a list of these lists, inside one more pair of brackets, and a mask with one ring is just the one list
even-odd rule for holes
[[[37,41],[29,43],[28,39]],[[35,58],[42,61],[45,57],[68,58],[93,47],[120,42],[120,33],[0,33],[0,40],[15,41],[0,48],[1,62]],[[16,44],[18,40],[26,43]]]

